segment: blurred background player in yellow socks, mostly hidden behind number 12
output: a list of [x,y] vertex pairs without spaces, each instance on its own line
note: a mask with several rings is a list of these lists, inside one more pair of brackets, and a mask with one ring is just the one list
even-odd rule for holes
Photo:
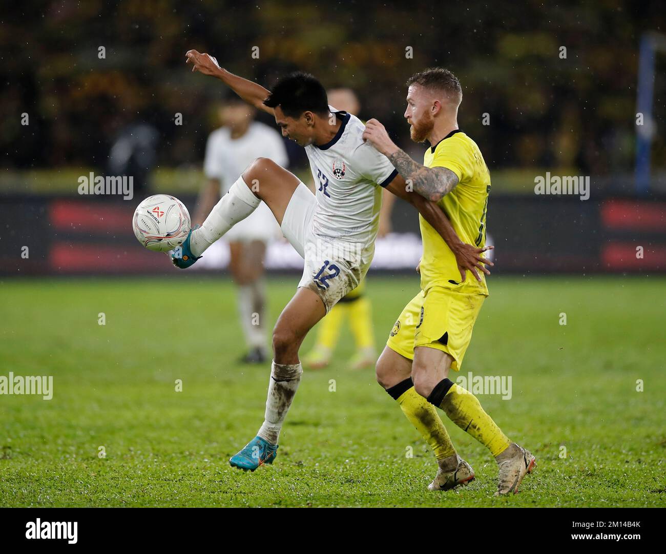
[[[327,92],[327,95],[330,105],[358,116],[361,106],[352,89],[331,89]],[[396,196],[388,190],[384,189],[382,191],[378,238],[386,236],[391,230],[391,212],[395,198]],[[350,366],[355,370],[374,366],[377,361],[377,354],[374,348],[374,333],[372,332],[372,305],[365,294],[366,279],[362,280],[361,284],[352,292],[340,299],[328,316],[320,322],[316,343],[312,350],[304,356],[303,363],[306,366],[317,370],[330,364],[344,320],[348,320],[356,343],[356,353],[349,362]]]

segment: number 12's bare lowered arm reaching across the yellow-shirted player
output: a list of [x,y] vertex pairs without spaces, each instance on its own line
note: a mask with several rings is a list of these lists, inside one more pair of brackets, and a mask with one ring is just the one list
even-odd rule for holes
[[426,198],[420,194],[408,190],[407,184],[402,176],[396,176],[396,178],[388,184],[386,190],[389,190],[396,196],[399,196],[403,200],[406,200],[406,202],[412,204],[424,219],[432,225],[434,230],[442,236],[444,242],[448,244],[448,247],[451,248],[454,256],[456,256],[456,263],[458,264],[460,278],[462,279],[461,282],[465,280],[466,271],[471,271],[477,281],[481,281],[481,277],[477,271],[478,269],[482,270],[485,274],[490,275],[490,271],[486,268],[486,265],[492,266],[493,263],[484,258],[482,254],[486,252],[486,250],[492,250],[494,246],[476,248],[476,246],[472,246],[472,244],[462,242],[458,234],[456,234],[456,230],[454,230],[448,217],[446,217],[444,210],[442,210],[442,208],[440,208],[435,202],[426,200]]

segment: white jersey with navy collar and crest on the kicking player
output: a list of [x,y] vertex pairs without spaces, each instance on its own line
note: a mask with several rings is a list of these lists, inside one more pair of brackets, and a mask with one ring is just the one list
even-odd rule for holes
[[312,231],[372,247],[379,228],[381,186],[398,174],[391,162],[362,139],[365,125],[358,117],[330,107],[342,120],[327,144],[305,147],[314,177],[317,206]]

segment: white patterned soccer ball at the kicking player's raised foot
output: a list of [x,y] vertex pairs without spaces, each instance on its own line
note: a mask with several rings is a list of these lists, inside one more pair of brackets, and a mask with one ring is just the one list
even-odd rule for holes
[[168,252],[180,246],[191,225],[185,205],[170,194],[149,196],[137,206],[132,218],[139,242],[155,252]]

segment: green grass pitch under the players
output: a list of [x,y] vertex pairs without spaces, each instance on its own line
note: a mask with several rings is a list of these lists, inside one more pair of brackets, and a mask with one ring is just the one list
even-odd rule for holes
[[[269,278],[272,321],[297,281]],[[426,489],[434,457],[374,370],[348,368],[348,333],[332,367],[306,370],[274,465],[230,467],[262,421],[269,368],[236,362],[226,278],[25,278],[0,290],[0,375],[53,375],[53,400],[0,396],[2,506],[666,505],[663,278],[490,280],[462,373],[511,376],[511,400],[479,399],[537,457],[519,494],[501,498],[490,453],[444,414],[477,478]],[[370,277],[378,350],[416,292],[418,276]]]

